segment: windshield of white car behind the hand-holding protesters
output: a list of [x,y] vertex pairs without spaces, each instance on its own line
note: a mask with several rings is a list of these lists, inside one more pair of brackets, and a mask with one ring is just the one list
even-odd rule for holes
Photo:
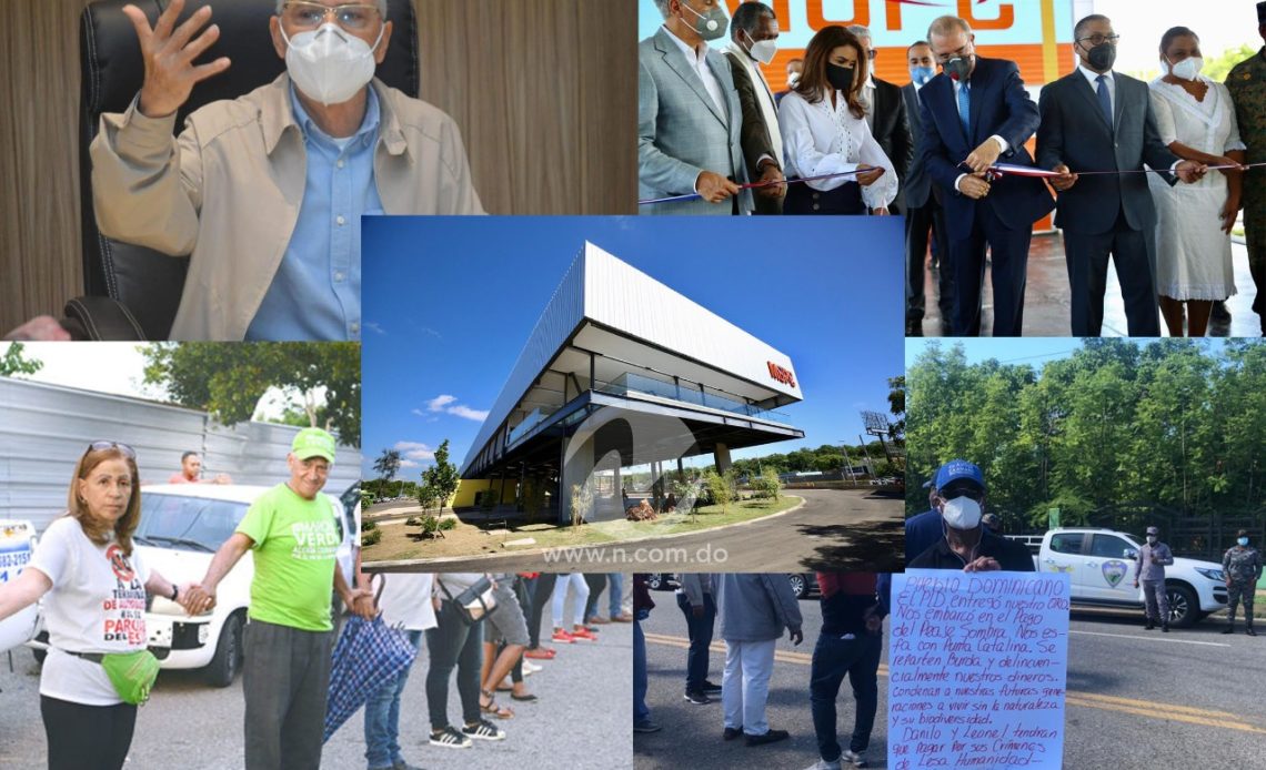
[[142,494],[137,539],[143,545],[214,553],[246,516],[247,503]]

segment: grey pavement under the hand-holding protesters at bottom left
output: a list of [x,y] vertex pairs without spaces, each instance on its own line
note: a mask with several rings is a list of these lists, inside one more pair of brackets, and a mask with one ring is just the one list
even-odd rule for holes
[[[604,611],[605,602],[599,604]],[[543,661],[546,669],[527,679],[539,700],[513,703],[515,718],[499,723],[508,733],[505,741],[476,742],[468,750],[427,743],[428,659],[423,645],[401,702],[405,756],[428,769],[627,767],[633,721],[632,625],[601,626],[599,637],[596,644],[556,645],[558,656]],[[13,657],[14,673],[9,673],[8,657],[0,655],[0,767],[43,767],[39,666],[25,649],[15,650]],[[241,679],[215,689],[192,673],[163,671],[137,717],[128,770],[242,767],[241,688]],[[449,687],[448,713],[452,721],[461,719],[456,683]],[[357,712],[330,737],[322,767],[365,766],[363,723],[363,712]]]

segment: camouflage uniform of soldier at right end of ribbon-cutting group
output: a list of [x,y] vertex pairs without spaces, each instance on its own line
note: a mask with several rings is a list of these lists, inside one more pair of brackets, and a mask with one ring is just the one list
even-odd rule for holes
[[[1234,66],[1227,75],[1227,89],[1236,102],[1239,135],[1248,147],[1247,162],[1266,162],[1266,46]],[[1266,167],[1248,171],[1243,190],[1248,268],[1257,286],[1253,311],[1266,333]]]

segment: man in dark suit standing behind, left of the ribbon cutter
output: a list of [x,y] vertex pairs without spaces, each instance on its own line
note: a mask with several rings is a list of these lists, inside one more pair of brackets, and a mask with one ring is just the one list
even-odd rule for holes
[[[919,40],[905,49],[910,68],[910,82],[901,86],[905,100],[905,118],[910,124],[910,139],[915,147],[923,137],[922,89],[934,75],[932,47]],[[928,257],[928,231],[936,244],[941,269],[937,271],[937,300],[941,305],[942,326],[948,326],[953,311],[953,271],[950,269],[950,239],[946,236],[946,214],[941,206],[941,191],[932,183],[927,167],[914,156],[901,186],[905,195],[905,334],[923,336],[923,266]]]

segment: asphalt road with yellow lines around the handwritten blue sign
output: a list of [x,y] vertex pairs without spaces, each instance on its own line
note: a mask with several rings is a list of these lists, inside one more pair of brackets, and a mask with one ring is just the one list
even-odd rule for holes
[[[633,737],[634,767],[808,767],[815,759],[808,681],[813,644],[820,627],[817,601],[800,602],[805,641],[779,642],[770,687],[770,723],[791,740],[747,749],[720,740],[720,704],[693,706],[682,694],[685,621],[671,593],[655,592],[658,607],[647,631],[652,717],[658,733]],[[1236,767],[1266,769],[1266,635],[1219,633],[1215,616],[1194,628],[1143,631],[1136,612],[1074,609],[1069,641],[1069,697],[1065,711],[1065,767]],[[1241,626],[1242,628],[1242,626]],[[885,632],[887,628],[885,627]],[[719,683],[724,646],[711,655]],[[880,665],[880,714],[886,709],[887,650]],[[847,685],[839,721],[852,726]],[[689,736],[689,737],[687,737]],[[870,766],[886,767],[884,719],[875,724]]]

